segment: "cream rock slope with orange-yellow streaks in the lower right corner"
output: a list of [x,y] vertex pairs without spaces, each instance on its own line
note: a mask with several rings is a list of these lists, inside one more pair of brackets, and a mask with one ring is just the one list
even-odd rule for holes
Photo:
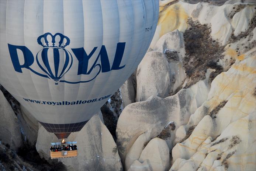
[[191,165],[198,170],[256,168],[256,48],[239,56],[228,49],[226,55],[237,60],[212,81],[207,100],[177,130],[197,125],[188,139],[174,146],[171,170],[187,170]]

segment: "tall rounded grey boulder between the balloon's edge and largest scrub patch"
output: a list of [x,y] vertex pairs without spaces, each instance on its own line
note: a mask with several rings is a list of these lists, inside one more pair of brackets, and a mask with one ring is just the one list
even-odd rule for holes
[[151,95],[165,98],[182,88],[186,79],[182,65],[184,56],[183,34],[175,30],[163,35],[138,66],[136,101],[146,100]]

